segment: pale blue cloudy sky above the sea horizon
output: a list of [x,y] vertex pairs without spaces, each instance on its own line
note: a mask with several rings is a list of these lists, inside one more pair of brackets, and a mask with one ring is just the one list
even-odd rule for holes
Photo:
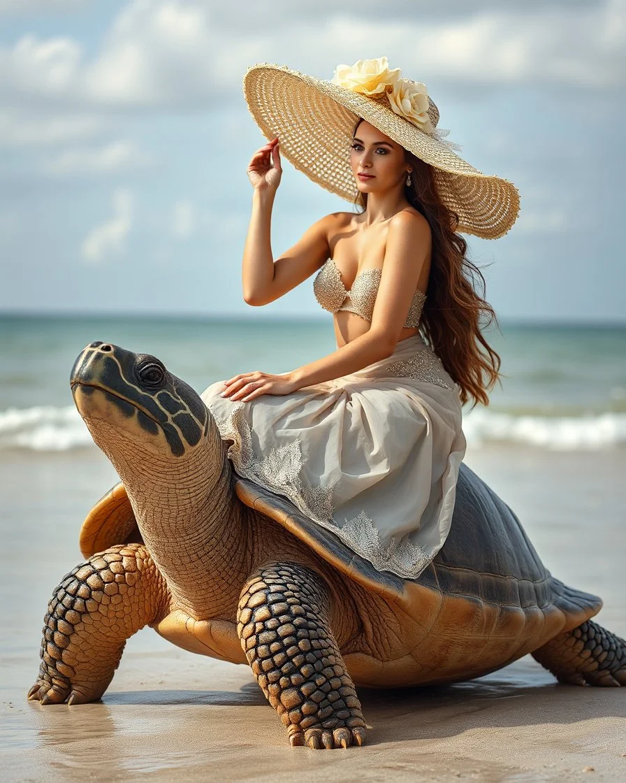
[[[626,0],[0,0],[0,311],[318,316],[243,301],[254,63],[387,56],[473,166],[514,182],[465,235],[498,317],[626,323]],[[350,211],[285,159],[275,258]]]

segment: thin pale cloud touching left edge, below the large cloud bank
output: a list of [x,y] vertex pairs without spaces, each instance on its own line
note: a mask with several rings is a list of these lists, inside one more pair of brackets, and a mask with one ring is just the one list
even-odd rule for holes
[[0,145],[56,146],[84,141],[103,129],[99,117],[80,114],[36,116],[16,110],[0,110]]

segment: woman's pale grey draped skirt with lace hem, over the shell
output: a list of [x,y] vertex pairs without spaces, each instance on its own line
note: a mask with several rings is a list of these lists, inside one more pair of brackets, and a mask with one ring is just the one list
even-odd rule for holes
[[202,399],[237,474],[289,498],[379,571],[415,579],[444,544],[465,455],[460,387],[419,334],[290,395]]

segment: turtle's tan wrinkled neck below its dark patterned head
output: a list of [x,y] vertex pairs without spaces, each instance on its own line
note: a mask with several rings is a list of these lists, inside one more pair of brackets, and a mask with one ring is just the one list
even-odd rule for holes
[[191,456],[160,461],[135,453],[120,472],[172,608],[196,619],[234,616],[248,549],[232,467],[212,420],[210,427]]

